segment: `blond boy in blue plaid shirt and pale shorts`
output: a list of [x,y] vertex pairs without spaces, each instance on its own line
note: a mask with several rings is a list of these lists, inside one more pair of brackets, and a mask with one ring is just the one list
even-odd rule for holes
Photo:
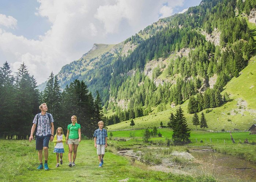
[[108,147],[107,130],[103,129],[104,123],[103,121],[98,122],[99,129],[94,131],[94,147],[97,148],[97,154],[99,159],[99,167],[103,165],[103,157],[105,154],[105,148]]

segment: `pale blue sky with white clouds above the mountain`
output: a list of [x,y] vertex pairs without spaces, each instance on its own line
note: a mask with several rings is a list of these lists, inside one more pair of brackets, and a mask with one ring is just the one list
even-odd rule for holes
[[1,0],[0,66],[24,62],[38,84],[94,43],[116,44],[200,0]]

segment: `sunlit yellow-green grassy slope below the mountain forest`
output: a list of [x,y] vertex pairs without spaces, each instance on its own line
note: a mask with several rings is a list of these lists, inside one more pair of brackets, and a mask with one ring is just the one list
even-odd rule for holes
[[[256,25],[249,23],[249,28],[252,32],[256,31]],[[256,34],[253,34],[253,38],[256,42]],[[254,52],[255,55],[255,52]],[[227,92],[230,95],[230,101],[224,103],[221,107],[212,108],[211,111],[206,113],[203,110],[207,123],[208,130],[248,130],[252,124],[256,123],[256,56],[253,56],[248,66],[246,66],[237,78],[232,78],[222,91]],[[184,111],[185,117],[188,122],[188,126],[192,129],[196,127],[192,124],[193,114],[187,112],[188,100],[185,101],[181,108]],[[160,126],[160,122],[167,126],[169,122],[170,113],[175,113],[175,108],[170,108],[170,105],[166,105],[167,110],[157,112],[157,108],[152,108],[153,111],[150,115],[135,118],[135,126],[133,128],[147,128]],[[110,115],[110,113],[108,114]],[[200,113],[199,113],[200,117]],[[109,130],[127,130],[131,129],[129,121],[113,124],[108,126]],[[197,127],[199,128],[199,126]]]

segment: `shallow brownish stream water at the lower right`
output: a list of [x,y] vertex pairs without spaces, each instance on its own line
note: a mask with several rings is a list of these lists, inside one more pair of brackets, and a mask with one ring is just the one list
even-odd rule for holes
[[190,150],[190,153],[201,162],[184,167],[185,171],[202,171],[203,166],[203,171],[212,171],[220,181],[256,181],[256,164],[214,151]]

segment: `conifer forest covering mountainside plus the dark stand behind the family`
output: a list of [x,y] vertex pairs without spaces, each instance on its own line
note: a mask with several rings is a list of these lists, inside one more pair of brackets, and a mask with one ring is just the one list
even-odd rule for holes
[[[127,55],[106,52],[85,66],[83,59],[65,65],[58,75],[49,76],[42,92],[24,63],[14,77],[5,62],[0,74],[1,138],[27,138],[43,102],[53,114],[55,127],[66,131],[71,116],[76,115],[87,137],[110,110],[114,114],[105,118],[106,125],[148,115],[152,107],[163,111],[167,104],[186,100],[189,114],[221,106],[229,101],[227,93],[221,94],[223,87],[240,76],[255,50],[246,20],[253,8],[255,0],[203,0],[187,12],[161,19],[129,37],[124,44],[136,48]],[[207,41],[202,32],[219,32],[219,43]],[[182,50],[189,50],[188,55],[178,55]],[[166,64],[158,64],[163,60]],[[158,66],[146,70],[152,61]],[[94,63],[93,68],[87,68],[89,63]],[[157,84],[155,80],[163,72],[164,81]],[[213,76],[216,83],[210,88]],[[118,105],[119,100],[127,105]]]

